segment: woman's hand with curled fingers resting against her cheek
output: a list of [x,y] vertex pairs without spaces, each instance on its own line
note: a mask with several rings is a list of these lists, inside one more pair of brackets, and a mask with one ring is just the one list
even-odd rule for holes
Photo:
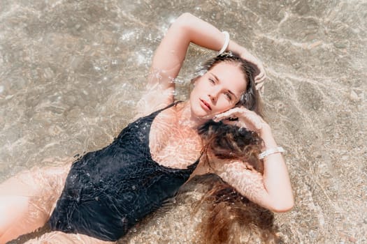
[[[235,118],[237,120],[233,121]],[[268,125],[261,116],[245,107],[234,107],[222,114],[217,114],[213,121],[223,121],[223,123],[247,128],[247,130],[255,132],[259,132],[265,125]]]

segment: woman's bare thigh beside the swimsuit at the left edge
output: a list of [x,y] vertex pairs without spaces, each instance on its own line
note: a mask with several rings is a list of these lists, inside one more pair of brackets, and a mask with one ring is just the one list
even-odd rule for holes
[[0,185],[0,244],[42,227],[64,188],[71,163],[34,168]]

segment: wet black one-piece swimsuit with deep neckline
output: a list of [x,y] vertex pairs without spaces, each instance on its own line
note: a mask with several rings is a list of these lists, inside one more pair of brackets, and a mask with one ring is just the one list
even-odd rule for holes
[[112,144],[73,163],[50,217],[51,229],[117,241],[175,195],[199,159],[187,169],[152,160],[150,126],[162,110],[130,123]]

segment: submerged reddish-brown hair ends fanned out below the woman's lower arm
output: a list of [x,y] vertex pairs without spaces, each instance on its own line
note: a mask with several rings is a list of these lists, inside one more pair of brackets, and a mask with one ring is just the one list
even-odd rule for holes
[[202,243],[279,243],[274,214],[240,195],[227,183],[211,178],[198,207],[203,218],[197,229]]

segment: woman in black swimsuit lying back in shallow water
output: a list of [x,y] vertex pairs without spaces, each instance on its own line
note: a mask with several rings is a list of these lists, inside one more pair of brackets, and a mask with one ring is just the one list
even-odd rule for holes
[[[173,79],[190,43],[236,55],[222,54],[208,61],[206,73],[193,79],[189,100],[175,102]],[[198,174],[217,174],[241,195],[271,211],[292,208],[282,150],[259,116],[257,89],[265,77],[260,61],[229,40],[227,33],[185,13],[157,48],[151,73],[147,92],[138,102],[136,121],[112,144],[86,153],[72,165],[24,172],[0,185],[0,243],[46,223],[52,232],[42,238],[48,242],[115,242]],[[213,121],[257,133],[261,147],[239,160],[205,163],[211,154],[203,148],[210,138],[202,130]],[[259,151],[264,174],[246,164]]]

